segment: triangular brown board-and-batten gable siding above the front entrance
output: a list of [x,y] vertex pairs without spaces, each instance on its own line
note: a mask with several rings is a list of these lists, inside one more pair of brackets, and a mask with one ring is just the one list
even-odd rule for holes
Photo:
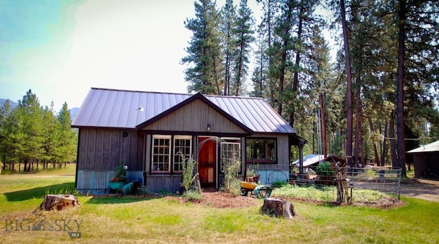
[[211,133],[246,134],[241,127],[200,99],[147,125],[143,130],[206,132],[207,125],[211,126]]

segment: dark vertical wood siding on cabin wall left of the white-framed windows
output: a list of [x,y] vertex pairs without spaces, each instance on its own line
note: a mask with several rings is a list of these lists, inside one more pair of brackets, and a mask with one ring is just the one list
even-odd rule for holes
[[77,167],[78,170],[114,171],[124,164],[128,171],[143,171],[143,149],[144,138],[137,132],[81,128]]

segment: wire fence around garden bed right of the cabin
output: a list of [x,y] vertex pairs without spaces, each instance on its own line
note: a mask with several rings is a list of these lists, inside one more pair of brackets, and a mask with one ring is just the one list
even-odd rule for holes
[[337,186],[340,180],[353,189],[369,189],[394,195],[398,200],[401,186],[401,169],[387,169],[376,167],[355,168],[347,167],[342,179],[336,178],[331,167],[304,167],[304,173],[294,173],[292,170],[290,183],[298,185]]

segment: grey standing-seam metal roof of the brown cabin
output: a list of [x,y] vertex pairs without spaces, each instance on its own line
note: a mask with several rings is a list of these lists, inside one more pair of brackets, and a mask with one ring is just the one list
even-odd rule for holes
[[[195,97],[194,97],[195,96]],[[198,96],[198,97],[197,97]],[[91,88],[72,127],[111,127],[136,130],[190,98],[205,98],[252,132],[296,134],[294,129],[262,98],[154,93]],[[189,101],[188,100],[188,101]],[[212,105],[213,104],[213,105]]]

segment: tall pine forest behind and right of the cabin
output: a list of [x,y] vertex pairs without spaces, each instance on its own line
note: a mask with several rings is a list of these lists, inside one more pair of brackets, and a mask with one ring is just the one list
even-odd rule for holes
[[405,175],[405,151],[439,136],[439,2],[257,2],[261,19],[246,0],[195,1],[182,58],[188,91],[264,97],[309,141],[305,155],[369,158]]

